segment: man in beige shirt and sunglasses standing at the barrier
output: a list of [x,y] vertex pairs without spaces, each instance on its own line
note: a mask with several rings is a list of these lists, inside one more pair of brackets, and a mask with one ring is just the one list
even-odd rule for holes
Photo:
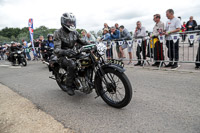
[[158,36],[162,34],[164,31],[164,23],[160,21],[160,14],[154,15],[154,21],[156,25],[153,28],[153,34],[151,38],[153,39],[153,46],[154,46],[154,61],[155,63],[152,66],[159,66],[160,61],[164,60],[163,55],[163,43],[160,42]]

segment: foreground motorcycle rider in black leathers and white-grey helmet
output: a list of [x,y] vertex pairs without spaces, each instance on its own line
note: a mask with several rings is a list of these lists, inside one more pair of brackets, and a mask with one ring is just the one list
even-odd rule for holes
[[80,39],[76,31],[76,18],[72,13],[63,13],[61,16],[61,26],[54,33],[54,53],[58,56],[61,67],[68,72],[65,90],[69,95],[74,95],[73,81],[75,78],[76,64],[70,57],[77,54],[73,50],[76,44],[87,45],[89,43]]

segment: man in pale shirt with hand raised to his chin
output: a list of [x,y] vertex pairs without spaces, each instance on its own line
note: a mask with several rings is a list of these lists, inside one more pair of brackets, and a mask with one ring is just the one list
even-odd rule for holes
[[144,64],[144,61],[141,63],[141,55],[140,53],[142,52],[142,56],[143,56],[143,60],[146,60],[146,47],[147,47],[147,41],[145,39],[146,37],[146,29],[145,27],[142,27],[142,23],[140,21],[138,21],[136,23],[136,28],[135,28],[135,33],[134,33],[134,37],[137,38],[137,37],[142,37],[143,40],[142,40],[142,44],[141,46],[138,45],[137,46],[137,51],[136,51],[136,55],[138,57],[138,63],[135,64],[135,66],[143,66]]

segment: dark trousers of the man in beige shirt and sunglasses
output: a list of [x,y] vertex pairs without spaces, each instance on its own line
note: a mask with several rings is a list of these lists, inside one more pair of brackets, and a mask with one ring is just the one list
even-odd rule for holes
[[159,62],[161,60],[164,60],[163,44],[160,43],[160,41],[157,41],[155,43],[154,56],[153,57],[154,57],[155,62]]

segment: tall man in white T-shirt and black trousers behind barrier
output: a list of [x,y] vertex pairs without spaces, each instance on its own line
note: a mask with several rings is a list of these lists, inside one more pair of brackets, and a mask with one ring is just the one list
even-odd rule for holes
[[180,31],[181,22],[178,18],[174,17],[173,9],[168,9],[166,11],[166,16],[169,19],[166,23],[165,35],[166,35],[166,45],[168,48],[168,57],[170,62],[165,67],[171,67],[172,69],[175,69],[178,67],[178,60],[179,60],[179,39],[174,44],[170,34]]

